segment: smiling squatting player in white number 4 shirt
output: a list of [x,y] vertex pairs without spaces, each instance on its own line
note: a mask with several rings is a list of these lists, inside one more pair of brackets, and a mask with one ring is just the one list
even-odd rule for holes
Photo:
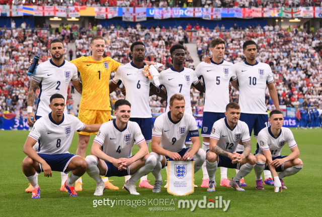
[[[116,119],[106,122],[94,139],[91,154],[86,157],[87,173],[96,181],[94,195],[103,195],[105,184],[100,175],[132,177],[124,184],[130,194],[139,194],[135,182],[150,173],[156,165],[156,159],[148,154],[148,148],[139,125],[131,122],[131,104],[125,99],[115,102]],[[133,143],[140,150],[131,157]]]

